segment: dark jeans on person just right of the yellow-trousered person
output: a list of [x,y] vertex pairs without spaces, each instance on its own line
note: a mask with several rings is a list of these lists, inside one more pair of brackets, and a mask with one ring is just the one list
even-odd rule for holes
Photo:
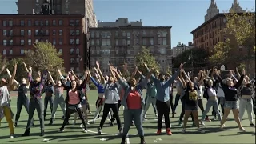
[[17,113],[15,115],[15,122],[18,122],[18,119],[20,118],[20,115],[21,115],[21,112],[22,112],[22,106],[25,107],[27,114],[29,114],[29,104],[30,104],[29,98],[18,97],[18,99],[17,99]]

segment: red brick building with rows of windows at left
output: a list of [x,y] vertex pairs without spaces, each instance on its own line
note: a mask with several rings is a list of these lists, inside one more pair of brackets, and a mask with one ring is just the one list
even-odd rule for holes
[[0,51],[3,57],[17,58],[33,50],[34,42],[51,42],[64,59],[66,71],[84,70],[86,18],[69,15],[0,15]]

